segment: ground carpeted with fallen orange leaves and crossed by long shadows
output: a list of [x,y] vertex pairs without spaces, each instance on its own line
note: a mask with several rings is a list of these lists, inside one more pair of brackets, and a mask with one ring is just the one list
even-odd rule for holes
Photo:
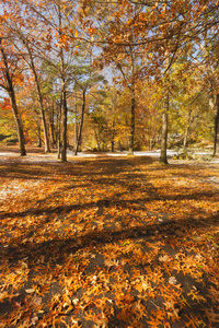
[[218,164],[1,148],[0,327],[219,327]]

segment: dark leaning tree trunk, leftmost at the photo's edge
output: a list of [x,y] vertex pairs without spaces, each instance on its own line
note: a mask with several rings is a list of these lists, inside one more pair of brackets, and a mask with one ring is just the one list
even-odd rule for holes
[[13,87],[13,82],[12,82],[12,78],[9,72],[8,58],[4,52],[1,38],[0,38],[0,49],[1,49],[1,56],[2,56],[2,60],[3,60],[4,69],[5,69],[5,81],[7,81],[5,91],[9,94],[13,116],[15,119],[16,132],[18,132],[18,138],[19,138],[19,145],[20,145],[20,154],[21,154],[21,156],[25,156],[26,150],[25,150],[23,125],[22,125],[22,120],[20,118],[20,114],[19,114],[19,109],[18,109],[18,105],[16,105],[15,92],[14,92],[14,87]]

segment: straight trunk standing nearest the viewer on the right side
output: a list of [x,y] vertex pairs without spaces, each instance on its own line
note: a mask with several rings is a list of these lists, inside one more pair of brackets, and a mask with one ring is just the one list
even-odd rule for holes
[[168,164],[166,144],[168,144],[168,112],[169,112],[169,93],[166,94],[165,109],[162,114],[162,137],[160,163]]

